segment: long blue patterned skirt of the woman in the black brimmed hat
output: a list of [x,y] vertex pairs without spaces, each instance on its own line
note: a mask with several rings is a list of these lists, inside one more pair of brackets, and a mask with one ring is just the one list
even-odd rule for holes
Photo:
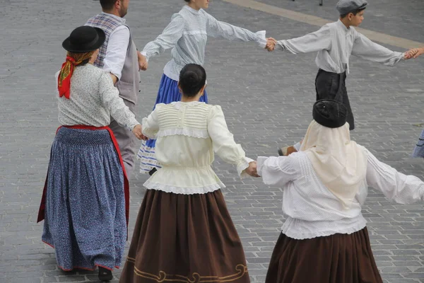
[[106,129],[57,132],[42,241],[55,249],[62,270],[119,267],[126,242],[124,173]]

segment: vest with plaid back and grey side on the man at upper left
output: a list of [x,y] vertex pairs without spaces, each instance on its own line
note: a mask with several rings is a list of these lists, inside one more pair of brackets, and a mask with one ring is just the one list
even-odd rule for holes
[[[100,13],[97,16],[90,18],[86,25],[101,28],[106,34],[105,43],[103,43],[102,47],[100,47],[98,59],[94,63],[96,67],[102,68],[104,65],[103,60],[105,59],[110,34],[113,30],[115,30],[115,28],[123,24],[119,23],[116,18],[107,13]],[[129,35],[129,45],[126,49],[124,67],[122,68],[122,76],[116,86],[119,90],[120,97],[125,100],[129,100],[134,104],[137,103],[140,91],[139,57],[136,45],[132,40],[131,31]]]

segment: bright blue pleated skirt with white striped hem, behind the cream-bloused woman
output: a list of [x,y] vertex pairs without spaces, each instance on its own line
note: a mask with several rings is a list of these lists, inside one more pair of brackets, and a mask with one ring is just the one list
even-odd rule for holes
[[[181,93],[179,93],[178,81],[174,81],[163,74],[162,79],[160,79],[158,97],[156,98],[155,106],[158,103],[169,104],[180,100]],[[206,90],[199,101],[208,103],[208,94],[206,93]],[[153,110],[155,110],[155,108],[153,108]],[[140,173],[148,173],[153,168],[160,168],[160,164],[158,164],[158,161],[156,161],[155,158],[155,144],[155,139],[143,141],[143,144],[141,144],[139,153],[137,154],[137,158],[140,160]]]

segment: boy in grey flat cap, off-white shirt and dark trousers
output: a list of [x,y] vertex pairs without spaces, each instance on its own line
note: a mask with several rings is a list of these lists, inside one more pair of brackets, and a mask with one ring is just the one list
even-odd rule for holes
[[[340,0],[336,8],[340,18],[328,23],[314,33],[291,40],[274,41],[276,49],[293,54],[318,52],[315,63],[319,67],[315,88],[317,100],[334,99],[348,109],[349,129],[355,129],[355,123],[346,91],[346,73],[349,73],[351,54],[387,66],[394,66],[401,59],[410,59],[410,52],[394,52],[372,42],[358,33],[354,27],[362,23],[367,1]],[[298,151],[300,143],[278,149],[278,154],[287,156]]]

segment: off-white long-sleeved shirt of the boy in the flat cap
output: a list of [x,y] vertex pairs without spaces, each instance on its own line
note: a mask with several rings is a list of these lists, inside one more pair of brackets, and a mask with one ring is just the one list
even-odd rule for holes
[[355,28],[346,28],[340,20],[328,23],[314,33],[278,41],[277,49],[293,54],[318,52],[315,63],[319,69],[332,73],[349,73],[351,54],[373,62],[394,66],[404,53],[394,52],[369,40]]

